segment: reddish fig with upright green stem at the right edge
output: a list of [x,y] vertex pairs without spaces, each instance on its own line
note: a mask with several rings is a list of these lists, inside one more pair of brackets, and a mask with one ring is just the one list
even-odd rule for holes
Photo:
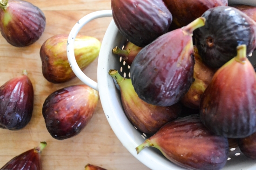
[[246,45],[214,74],[202,94],[200,115],[217,135],[245,138],[256,132],[256,75]]

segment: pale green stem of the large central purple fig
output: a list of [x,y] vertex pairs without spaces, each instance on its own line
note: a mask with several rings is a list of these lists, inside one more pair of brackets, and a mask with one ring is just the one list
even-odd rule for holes
[[184,32],[184,34],[188,34],[188,35],[193,35],[193,31],[201,26],[205,25],[205,18],[204,17],[199,17],[197,19],[195,19],[194,21],[192,21],[191,23],[189,23],[189,25],[183,26],[182,30]]

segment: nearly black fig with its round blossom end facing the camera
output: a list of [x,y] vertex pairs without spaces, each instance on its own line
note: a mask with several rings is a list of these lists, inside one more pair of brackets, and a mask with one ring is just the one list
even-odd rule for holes
[[194,31],[195,45],[202,61],[220,68],[236,56],[236,47],[245,44],[246,54],[255,49],[256,23],[245,13],[231,6],[217,6],[202,17],[205,25]]

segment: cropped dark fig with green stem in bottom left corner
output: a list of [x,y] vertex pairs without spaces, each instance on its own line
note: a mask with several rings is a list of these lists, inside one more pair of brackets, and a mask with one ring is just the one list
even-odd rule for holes
[[13,157],[0,170],[42,170],[41,152],[46,145],[46,142],[40,142],[38,147]]

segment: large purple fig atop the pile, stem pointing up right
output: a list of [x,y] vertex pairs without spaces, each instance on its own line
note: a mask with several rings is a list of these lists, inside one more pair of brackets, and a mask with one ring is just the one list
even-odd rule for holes
[[130,75],[135,92],[143,101],[171,106],[187,93],[193,82],[195,64],[192,32],[204,22],[200,17],[165,33],[137,54]]

